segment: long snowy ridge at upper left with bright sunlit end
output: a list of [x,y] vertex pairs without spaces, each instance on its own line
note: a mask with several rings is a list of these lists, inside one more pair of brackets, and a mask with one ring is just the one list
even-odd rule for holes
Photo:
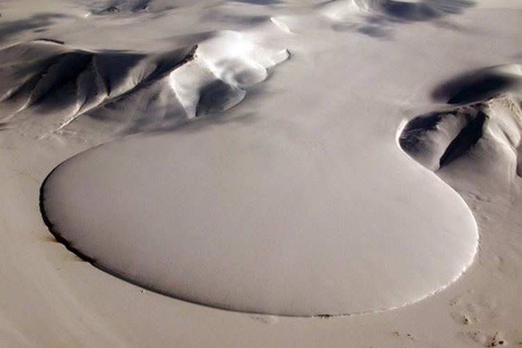
[[86,115],[113,123],[113,131],[138,132],[230,109],[288,56],[235,31],[155,54],[21,43],[0,52],[0,118],[16,124],[41,113],[58,130]]

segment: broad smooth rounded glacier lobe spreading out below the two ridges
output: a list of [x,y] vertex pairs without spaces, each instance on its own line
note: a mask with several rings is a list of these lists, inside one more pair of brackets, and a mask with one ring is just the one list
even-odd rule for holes
[[464,201],[397,148],[382,172],[390,149],[347,160],[340,145],[324,158],[284,129],[207,120],[63,162],[41,189],[57,239],[162,294],[290,316],[404,306],[473,260]]

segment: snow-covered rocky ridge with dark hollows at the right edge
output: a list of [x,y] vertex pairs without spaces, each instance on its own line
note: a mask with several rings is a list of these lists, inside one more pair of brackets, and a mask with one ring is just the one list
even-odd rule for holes
[[[436,99],[457,104],[413,118],[400,145],[432,171],[473,150],[478,142],[503,149],[508,176],[522,174],[522,74],[520,65],[503,65],[464,74],[434,91]],[[491,159],[484,159],[491,161]]]

